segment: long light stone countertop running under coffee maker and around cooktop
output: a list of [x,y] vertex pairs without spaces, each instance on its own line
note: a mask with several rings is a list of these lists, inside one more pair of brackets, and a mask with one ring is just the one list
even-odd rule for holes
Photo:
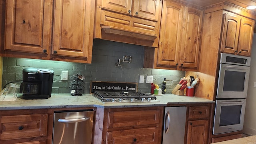
[[0,101],[0,110],[36,109],[36,108],[78,108],[78,107],[101,107],[101,108],[127,108],[145,106],[167,106],[168,104],[197,104],[214,103],[212,100],[194,96],[177,96],[164,94],[156,96],[160,102],[132,102],[132,103],[103,103],[92,94],[71,96],[70,94],[52,94],[48,99],[23,100],[21,94],[14,101]]

